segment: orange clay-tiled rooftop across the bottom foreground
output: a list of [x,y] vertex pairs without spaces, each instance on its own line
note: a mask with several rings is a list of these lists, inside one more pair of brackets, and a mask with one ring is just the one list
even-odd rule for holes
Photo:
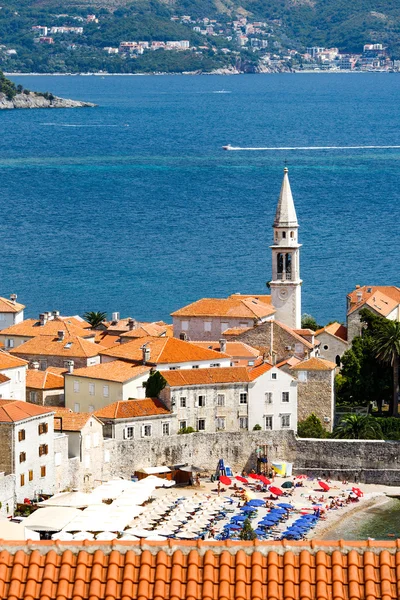
[[8,542],[7,600],[398,600],[397,542]]

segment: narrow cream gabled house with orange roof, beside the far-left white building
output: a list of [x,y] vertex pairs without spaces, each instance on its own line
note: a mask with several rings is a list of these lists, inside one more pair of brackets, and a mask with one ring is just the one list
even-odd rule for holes
[[78,487],[91,489],[102,479],[103,423],[90,413],[59,407],[54,410],[54,430],[68,436],[68,458],[79,460]]

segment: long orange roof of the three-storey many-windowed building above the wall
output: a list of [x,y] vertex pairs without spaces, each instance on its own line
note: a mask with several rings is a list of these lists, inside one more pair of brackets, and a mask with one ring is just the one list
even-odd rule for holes
[[257,367],[217,367],[212,369],[178,369],[163,371],[162,375],[170,387],[189,385],[213,385],[219,383],[248,383],[272,368],[264,363]]

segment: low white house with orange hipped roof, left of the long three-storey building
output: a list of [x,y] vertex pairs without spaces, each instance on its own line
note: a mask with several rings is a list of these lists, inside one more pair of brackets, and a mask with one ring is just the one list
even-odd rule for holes
[[168,437],[177,433],[176,415],[155,398],[114,402],[95,413],[104,437],[117,441]]

